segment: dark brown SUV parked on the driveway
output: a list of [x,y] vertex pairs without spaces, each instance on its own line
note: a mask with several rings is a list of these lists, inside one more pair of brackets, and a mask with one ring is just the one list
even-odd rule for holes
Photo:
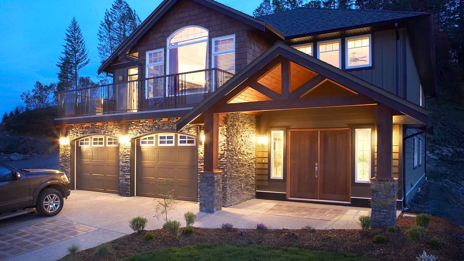
[[70,193],[64,172],[19,170],[0,161],[0,219],[30,213],[34,207],[41,216],[55,216]]

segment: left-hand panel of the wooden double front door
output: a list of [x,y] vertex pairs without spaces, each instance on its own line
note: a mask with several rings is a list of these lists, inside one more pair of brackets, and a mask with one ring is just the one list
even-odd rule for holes
[[318,197],[315,166],[318,160],[317,131],[289,132],[290,197]]

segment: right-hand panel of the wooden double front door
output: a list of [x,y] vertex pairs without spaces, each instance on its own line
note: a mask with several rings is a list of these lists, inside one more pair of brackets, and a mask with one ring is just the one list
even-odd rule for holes
[[349,201],[351,177],[350,130],[320,132],[319,198]]

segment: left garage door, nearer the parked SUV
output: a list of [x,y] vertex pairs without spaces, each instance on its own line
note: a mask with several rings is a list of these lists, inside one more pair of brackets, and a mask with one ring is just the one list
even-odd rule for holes
[[119,142],[108,136],[77,141],[76,188],[107,193],[119,192]]

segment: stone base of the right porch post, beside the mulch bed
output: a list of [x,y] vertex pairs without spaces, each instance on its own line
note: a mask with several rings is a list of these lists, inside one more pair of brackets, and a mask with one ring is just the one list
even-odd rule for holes
[[396,197],[398,179],[371,179],[371,227],[396,225]]

